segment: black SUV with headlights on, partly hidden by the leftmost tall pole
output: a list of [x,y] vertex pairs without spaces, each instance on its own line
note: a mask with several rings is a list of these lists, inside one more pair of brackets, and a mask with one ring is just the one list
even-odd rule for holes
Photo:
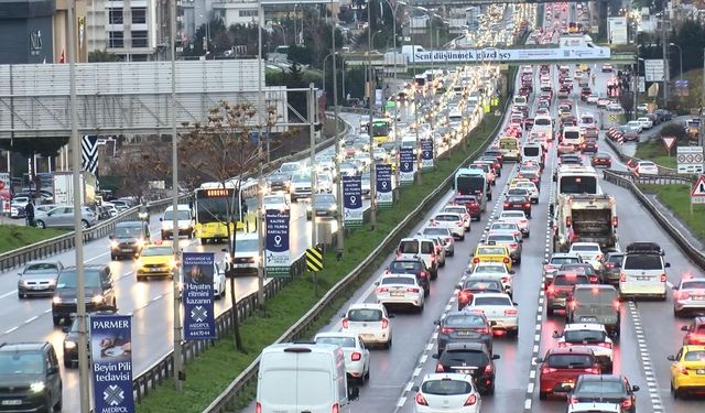
[[[84,279],[86,312],[118,309],[110,265],[86,265]],[[69,320],[72,315],[76,313],[76,282],[75,267],[66,267],[58,274],[56,290],[54,290],[52,298],[52,319],[55,326],[59,325],[62,319]]]

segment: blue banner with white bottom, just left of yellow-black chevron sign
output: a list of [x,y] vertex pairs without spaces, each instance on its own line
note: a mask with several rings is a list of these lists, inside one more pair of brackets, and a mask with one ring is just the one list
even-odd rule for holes
[[264,213],[264,263],[268,276],[289,276],[289,210],[268,209]]

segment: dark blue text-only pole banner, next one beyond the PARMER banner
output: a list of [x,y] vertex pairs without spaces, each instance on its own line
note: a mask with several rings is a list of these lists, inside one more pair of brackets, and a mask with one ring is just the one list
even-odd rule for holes
[[213,252],[184,252],[184,339],[215,339]]

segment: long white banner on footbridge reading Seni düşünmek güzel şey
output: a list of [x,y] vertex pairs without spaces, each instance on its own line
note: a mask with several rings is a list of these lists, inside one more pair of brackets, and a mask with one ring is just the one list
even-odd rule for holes
[[414,52],[410,63],[443,62],[561,62],[571,59],[608,59],[609,47],[563,48],[467,48],[453,51]]

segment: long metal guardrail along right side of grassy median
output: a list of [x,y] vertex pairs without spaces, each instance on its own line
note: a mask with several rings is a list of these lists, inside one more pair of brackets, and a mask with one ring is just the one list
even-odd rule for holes
[[[508,113],[508,107],[511,99],[507,99],[505,104],[505,117]],[[460,166],[467,164],[473,159],[477,157],[480,153],[485,151],[487,145],[494,140],[494,137],[497,134],[499,129],[502,127],[502,120],[500,120],[492,132],[488,135],[487,140],[482,143],[482,145],[473,152],[469,156],[467,156],[462,163]],[[471,131],[468,133],[468,137],[471,134]],[[467,139],[467,137],[466,137]],[[459,141],[458,144],[463,144],[463,140]],[[457,145],[456,145],[457,148]],[[304,338],[304,335],[308,330],[310,326],[317,322],[321,318],[322,313],[328,308],[328,306],[335,302],[348,287],[355,284],[361,276],[366,275],[369,268],[373,264],[377,258],[383,253],[384,251],[391,250],[395,247],[395,243],[399,242],[399,239],[403,238],[402,232],[413,222],[415,222],[419,217],[424,213],[424,210],[433,205],[437,198],[440,198],[449,187],[453,182],[453,177],[457,169],[446,177],[443,183],[434,189],[431,194],[429,194],[419,206],[409,214],[401,222],[391,230],[391,232],[382,240],[382,242],[362,262],[360,262],[350,273],[348,273],[343,280],[340,280],[336,285],[334,285],[326,295],[318,301],[303,317],[299,319],[292,327],[290,327],[275,343],[290,341],[295,339]],[[234,409],[234,404],[238,396],[243,392],[243,390],[257,380],[257,371],[259,368],[259,357],[250,363],[231,383],[226,388],[226,390],[213,402],[204,413],[226,413],[230,412]]]

